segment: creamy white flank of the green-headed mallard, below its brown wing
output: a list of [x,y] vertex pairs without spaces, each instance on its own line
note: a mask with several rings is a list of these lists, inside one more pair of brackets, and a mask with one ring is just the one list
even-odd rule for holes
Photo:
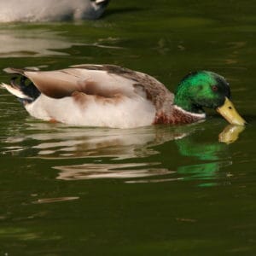
[[26,110],[38,119],[113,128],[152,125],[155,116],[153,103],[141,96],[123,97],[118,103],[99,102],[95,96],[89,96],[83,106],[72,97],[54,99],[41,95],[35,102],[27,104]]

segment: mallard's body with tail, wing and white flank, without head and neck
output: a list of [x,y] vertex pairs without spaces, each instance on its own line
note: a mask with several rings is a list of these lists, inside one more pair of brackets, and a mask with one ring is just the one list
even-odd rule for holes
[[[49,72],[5,71],[20,73],[20,82],[15,75],[10,85],[3,86],[38,119],[130,128],[160,123],[159,116],[172,113],[173,95],[163,84],[123,67],[80,65]],[[28,87],[25,78],[32,81]]]

